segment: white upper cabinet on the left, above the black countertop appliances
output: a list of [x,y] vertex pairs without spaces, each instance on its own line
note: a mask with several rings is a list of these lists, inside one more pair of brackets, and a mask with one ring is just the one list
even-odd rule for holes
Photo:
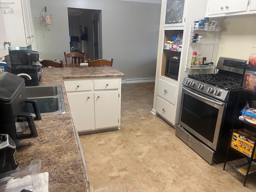
[[26,47],[34,40],[30,0],[17,0],[4,10],[4,26],[12,46]]

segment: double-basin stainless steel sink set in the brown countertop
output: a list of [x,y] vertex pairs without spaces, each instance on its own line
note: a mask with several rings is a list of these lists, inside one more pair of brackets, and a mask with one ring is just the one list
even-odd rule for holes
[[[61,85],[26,87],[28,99],[37,100],[41,116],[65,113],[64,97]],[[25,103],[24,112],[34,114],[31,103]]]

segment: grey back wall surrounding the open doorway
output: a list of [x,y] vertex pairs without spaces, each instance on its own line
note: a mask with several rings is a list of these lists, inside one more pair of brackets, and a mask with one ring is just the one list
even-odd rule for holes
[[[68,7],[102,10],[102,58],[114,58],[113,67],[123,79],[155,77],[160,4],[119,0],[31,0],[35,30],[34,50],[40,58],[64,60],[69,52]],[[53,25],[40,25],[47,7]]]

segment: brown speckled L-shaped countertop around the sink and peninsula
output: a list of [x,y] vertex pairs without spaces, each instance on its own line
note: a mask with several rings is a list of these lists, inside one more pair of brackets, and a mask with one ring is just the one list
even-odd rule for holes
[[17,148],[20,168],[40,159],[40,172],[49,172],[49,192],[89,191],[63,79],[121,76],[112,67],[43,68],[39,86],[61,84],[66,113],[35,121],[38,137],[21,140]]

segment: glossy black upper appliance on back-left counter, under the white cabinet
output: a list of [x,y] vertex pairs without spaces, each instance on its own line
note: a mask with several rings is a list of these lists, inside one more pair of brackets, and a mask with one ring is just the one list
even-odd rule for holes
[[32,50],[12,50],[9,51],[12,66],[32,65],[32,62],[39,61],[40,52]]

